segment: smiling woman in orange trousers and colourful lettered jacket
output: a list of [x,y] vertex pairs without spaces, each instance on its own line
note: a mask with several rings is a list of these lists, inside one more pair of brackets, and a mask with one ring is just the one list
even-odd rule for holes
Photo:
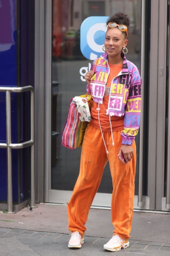
[[[136,168],[135,136],[141,110],[141,78],[126,60],[129,18],[116,13],[107,20],[105,53],[94,61],[85,79],[94,102],[82,145],[80,174],[68,203],[69,248],[81,248],[91,203],[109,161],[113,181],[113,237],[104,245],[112,252],[129,247]],[[94,71],[92,69],[96,65]],[[123,153],[125,162],[120,161]]]

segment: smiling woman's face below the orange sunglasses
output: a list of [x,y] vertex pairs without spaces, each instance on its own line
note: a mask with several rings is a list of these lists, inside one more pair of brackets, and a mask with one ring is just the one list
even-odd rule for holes
[[104,47],[108,58],[115,58],[121,54],[122,48],[126,46],[128,40],[124,33],[118,28],[109,28],[106,31]]

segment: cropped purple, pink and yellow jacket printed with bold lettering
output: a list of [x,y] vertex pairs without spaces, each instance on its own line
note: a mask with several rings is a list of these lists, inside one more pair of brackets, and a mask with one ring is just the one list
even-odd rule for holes
[[[103,54],[92,64],[95,66],[95,75],[91,78],[90,90],[96,103],[103,103],[103,96],[109,66],[107,54]],[[123,56],[123,67],[120,73],[113,77],[109,94],[106,115],[124,116],[123,130],[121,131],[122,144],[132,145],[138,133],[141,112],[141,78],[137,67]]]

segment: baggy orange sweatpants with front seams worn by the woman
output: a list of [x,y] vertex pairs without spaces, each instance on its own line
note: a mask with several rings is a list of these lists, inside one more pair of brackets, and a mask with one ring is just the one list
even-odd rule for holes
[[106,154],[101,131],[90,123],[86,128],[81,152],[80,173],[68,202],[68,228],[71,232],[78,231],[82,237],[86,231],[85,223],[100,185],[103,169],[109,161],[113,182],[111,202],[112,224],[115,228],[113,233],[125,240],[130,238],[135,188],[136,145],[133,141],[134,155],[129,164],[122,163],[117,156],[122,142],[120,132],[113,132],[114,146],[111,132],[103,132],[109,152]]

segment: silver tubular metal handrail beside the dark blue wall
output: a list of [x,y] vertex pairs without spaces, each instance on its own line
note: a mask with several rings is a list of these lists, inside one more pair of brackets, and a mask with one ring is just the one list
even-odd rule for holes
[[[31,146],[31,207],[35,208],[35,179],[34,179],[34,88],[24,87],[5,87],[0,86],[1,92],[6,92],[6,143],[0,143],[0,148],[7,149],[7,213],[13,211],[12,196],[12,148],[24,148]],[[31,92],[31,139],[23,143],[11,143],[11,93]]]

